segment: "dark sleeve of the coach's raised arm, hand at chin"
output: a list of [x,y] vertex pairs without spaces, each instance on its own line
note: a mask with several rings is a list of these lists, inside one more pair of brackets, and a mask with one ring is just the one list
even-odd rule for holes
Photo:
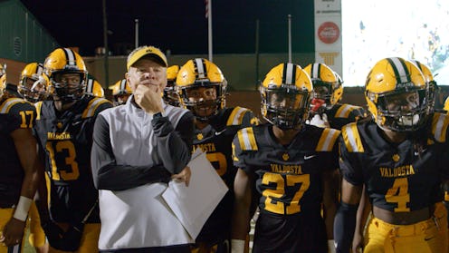
[[183,170],[190,161],[194,133],[194,116],[186,112],[174,129],[167,117],[152,120],[157,138],[156,150],[163,166],[173,174]]

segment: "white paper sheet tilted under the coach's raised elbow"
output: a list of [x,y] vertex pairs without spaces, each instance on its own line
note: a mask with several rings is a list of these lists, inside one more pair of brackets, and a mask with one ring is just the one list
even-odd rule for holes
[[197,149],[187,166],[192,172],[188,187],[184,182],[171,180],[162,198],[195,239],[228,188],[205,157],[205,152]]

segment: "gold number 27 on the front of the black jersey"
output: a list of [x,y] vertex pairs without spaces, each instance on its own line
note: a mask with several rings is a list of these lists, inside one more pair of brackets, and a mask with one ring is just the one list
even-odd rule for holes
[[[301,211],[300,200],[310,186],[310,175],[286,175],[285,179],[281,174],[264,173],[263,185],[269,186],[273,183],[276,189],[263,190],[265,199],[265,209],[278,214],[294,214]],[[292,198],[286,196],[286,189],[293,191]],[[290,202],[277,199],[291,199]]]

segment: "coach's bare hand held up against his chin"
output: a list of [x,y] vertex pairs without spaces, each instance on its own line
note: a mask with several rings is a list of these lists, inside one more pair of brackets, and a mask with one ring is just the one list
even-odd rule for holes
[[134,92],[134,101],[149,114],[163,112],[161,92],[153,86],[139,85]]

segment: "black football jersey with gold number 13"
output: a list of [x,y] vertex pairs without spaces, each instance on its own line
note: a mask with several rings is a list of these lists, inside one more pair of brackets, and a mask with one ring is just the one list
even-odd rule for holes
[[98,198],[91,176],[92,131],[98,113],[110,107],[110,101],[91,96],[65,112],[58,112],[53,101],[36,103],[35,131],[45,151],[50,211],[56,221],[80,219],[68,213],[85,214]]

